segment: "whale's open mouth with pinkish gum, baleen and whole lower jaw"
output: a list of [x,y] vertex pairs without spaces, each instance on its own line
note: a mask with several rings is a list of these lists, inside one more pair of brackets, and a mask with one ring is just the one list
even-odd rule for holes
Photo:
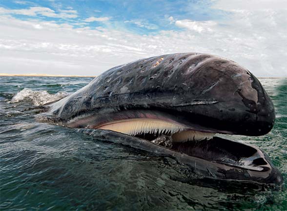
[[[135,137],[128,145],[157,152],[164,150],[165,154],[179,159],[187,156],[184,161],[188,161],[188,165],[193,163],[193,159],[200,159],[193,164],[195,168],[203,168],[203,175],[264,184],[282,183],[280,173],[259,148],[215,136],[216,133],[232,132],[179,120],[183,120],[182,117],[165,112],[125,110],[107,114],[101,121],[91,115],[76,118],[68,124],[70,127],[115,131]],[[200,167],[201,164],[204,166]]]

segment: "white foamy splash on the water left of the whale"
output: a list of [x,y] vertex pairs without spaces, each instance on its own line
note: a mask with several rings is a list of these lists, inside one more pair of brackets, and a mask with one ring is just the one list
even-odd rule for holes
[[61,100],[68,95],[69,94],[64,91],[57,92],[56,94],[49,94],[47,91],[35,91],[32,89],[24,88],[12,98],[10,103],[29,101],[32,102],[33,105],[45,105]]

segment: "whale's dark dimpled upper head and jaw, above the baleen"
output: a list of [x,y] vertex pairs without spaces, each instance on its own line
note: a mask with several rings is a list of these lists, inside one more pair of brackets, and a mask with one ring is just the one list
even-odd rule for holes
[[51,105],[50,113],[68,126],[90,127],[143,118],[142,111],[164,113],[195,130],[247,136],[268,133],[275,121],[273,103],[255,76],[230,60],[199,53],[114,67]]

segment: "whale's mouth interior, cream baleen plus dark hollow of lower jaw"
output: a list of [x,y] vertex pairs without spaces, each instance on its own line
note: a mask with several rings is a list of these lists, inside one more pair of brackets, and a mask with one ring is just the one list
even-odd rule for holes
[[[257,148],[216,137],[215,133],[194,130],[175,121],[135,118],[111,121],[95,129],[113,130],[147,141],[160,136],[169,136],[172,145],[168,148],[206,161],[230,167],[267,171],[269,164]],[[165,147],[161,145],[161,147]]]

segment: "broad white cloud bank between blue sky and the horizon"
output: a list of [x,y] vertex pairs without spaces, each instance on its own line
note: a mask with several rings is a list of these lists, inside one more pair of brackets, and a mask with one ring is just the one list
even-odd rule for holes
[[104,27],[74,28],[55,21],[21,21],[0,10],[0,72],[99,75],[140,58],[204,52],[238,62],[258,77],[287,77],[287,9],[273,5],[273,9],[252,10],[238,4],[235,10],[227,2],[217,4],[228,11],[225,20],[176,20],[167,16],[166,20],[183,30],[152,35]]

